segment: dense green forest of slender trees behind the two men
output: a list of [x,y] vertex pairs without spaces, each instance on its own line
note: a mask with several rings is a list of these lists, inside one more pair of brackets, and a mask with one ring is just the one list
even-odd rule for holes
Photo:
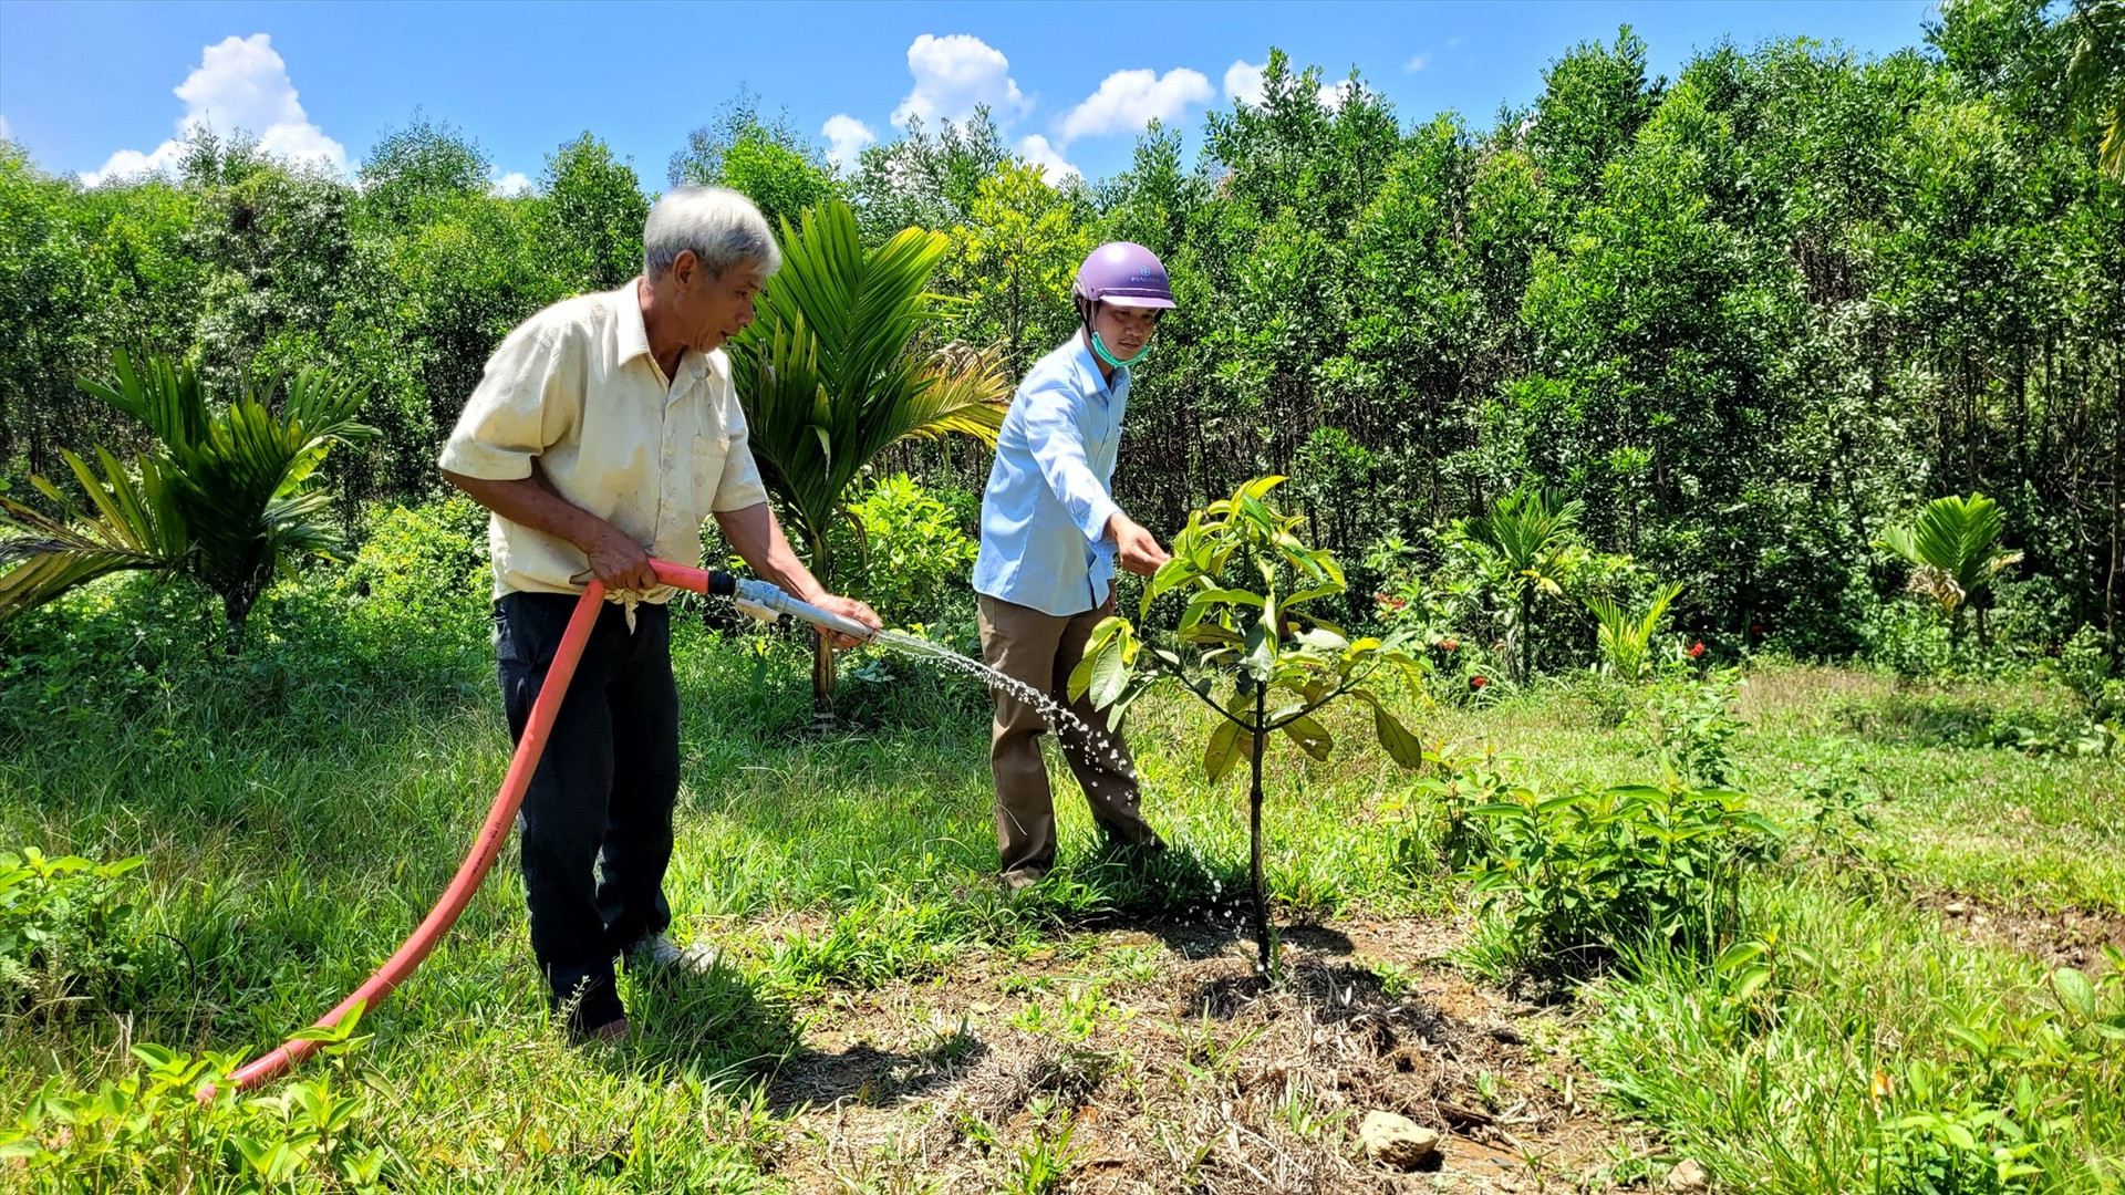
[[[712,181],[771,219],[839,198],[878,240],[946,232],[944,334],[1014,370],[1071,330],[1092,245],[1158,251],[1182,308],[1137,370],[1116,487],[1160,534],[1290,474],[1371,598],[1547,491],[1577,504],[1583,570],[1683,583],[1677,621],[1715,651],[1842,657],[1885,651],[1906,606],[1883,536],[1983,493],[2021,559],[1972,602],[2046,651],[2125,604],[2125,183],[2102,168],[2114,113],[2068,70],[2087,30],[1976,0],[1889,57],[1721,45],[1660,79],[1626,28],[1485,121],[1398,113],[1356,74],[1330,102],[1273,53],[1198,159],[1152,125],[1103,181],[1043,176],[980,115],[837,170],[752,94],[661,176],[584,132],[525,196],[491,193],[474,130],[421,113],[355,179],[240,130],[100,187],[0,142],[0,487],[34,502],[62,449],[138,436],[76,387],[119,349],[191,357],[221,393],[321,366],[380,432],[327,464],[359,534],[378,502],[440,493],[493,344],[627,281],[654,187]],[[878,472],[967,491],[984,464],[920,444]]]

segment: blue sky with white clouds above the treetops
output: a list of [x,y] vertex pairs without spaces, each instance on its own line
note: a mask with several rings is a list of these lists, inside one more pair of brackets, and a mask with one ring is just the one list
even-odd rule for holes
[[[1813,36],[1864,55],[1921,43],[1930,0],[1432,4],[51,4],[0,0],[0,134],[47,170],[170,159],[187,121],[355,168],[414,108],[478,138],[497,183],[536,179],[591,130],[663,187],[686,130],[740,85],[848,153],[920,113],[988,102],[1012,142],[1090,179],[1143,121],[1201,128],[1269,47],[1332,83],[1352,68],[1407,121],[1526,104],[1572,43],[1630,23],[1653,70],[1732,38]],[[1190,147],[1194,136],[1190,136]]]

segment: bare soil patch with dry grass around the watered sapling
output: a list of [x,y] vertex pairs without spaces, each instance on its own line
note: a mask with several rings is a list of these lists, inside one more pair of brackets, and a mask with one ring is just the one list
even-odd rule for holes
[[[778,1169],[835,1193],[1609,1189],[1658,1146],[1594,1112],[1560,1012],[1445,963],[1464,931],[1288,927],[1264,982],[1232,927],[1116,925],[831,989],[771,1084],[795,1114]],[[1371,1110],[1439,1150],[1368,1161]]]

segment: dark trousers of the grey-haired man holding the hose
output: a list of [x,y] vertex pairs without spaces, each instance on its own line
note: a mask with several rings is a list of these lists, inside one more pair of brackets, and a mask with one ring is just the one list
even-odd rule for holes
[[[495,670],[512,740],[523,738],[574,610],[563,593],[495,602]],[[531,953],[555,1010],[574,1002],[576,1027],[620,1016],[612,961],[672,925],[663,874],[676,800],[672,612],[635,606],[629,634],[627,612],[606,604],[516,819]]]

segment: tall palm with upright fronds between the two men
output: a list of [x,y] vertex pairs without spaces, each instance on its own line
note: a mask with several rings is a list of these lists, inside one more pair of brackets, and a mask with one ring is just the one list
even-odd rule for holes
[[[850,485],[886,447],[952,432],[994,447],[1012,378],[990,351],[920,351],[944,315],[929,276],[950,240],[903,230],[865,251],[856,213],[835,200],[782,221],[782,270],[761,296],[759,321],[731,340],[731,372],[761,481],[831,587],[829,532],[848,512]],[[858,527],[861,529],[861,527]],[[816,646],[812,700],[833,695],[833,655]]]

